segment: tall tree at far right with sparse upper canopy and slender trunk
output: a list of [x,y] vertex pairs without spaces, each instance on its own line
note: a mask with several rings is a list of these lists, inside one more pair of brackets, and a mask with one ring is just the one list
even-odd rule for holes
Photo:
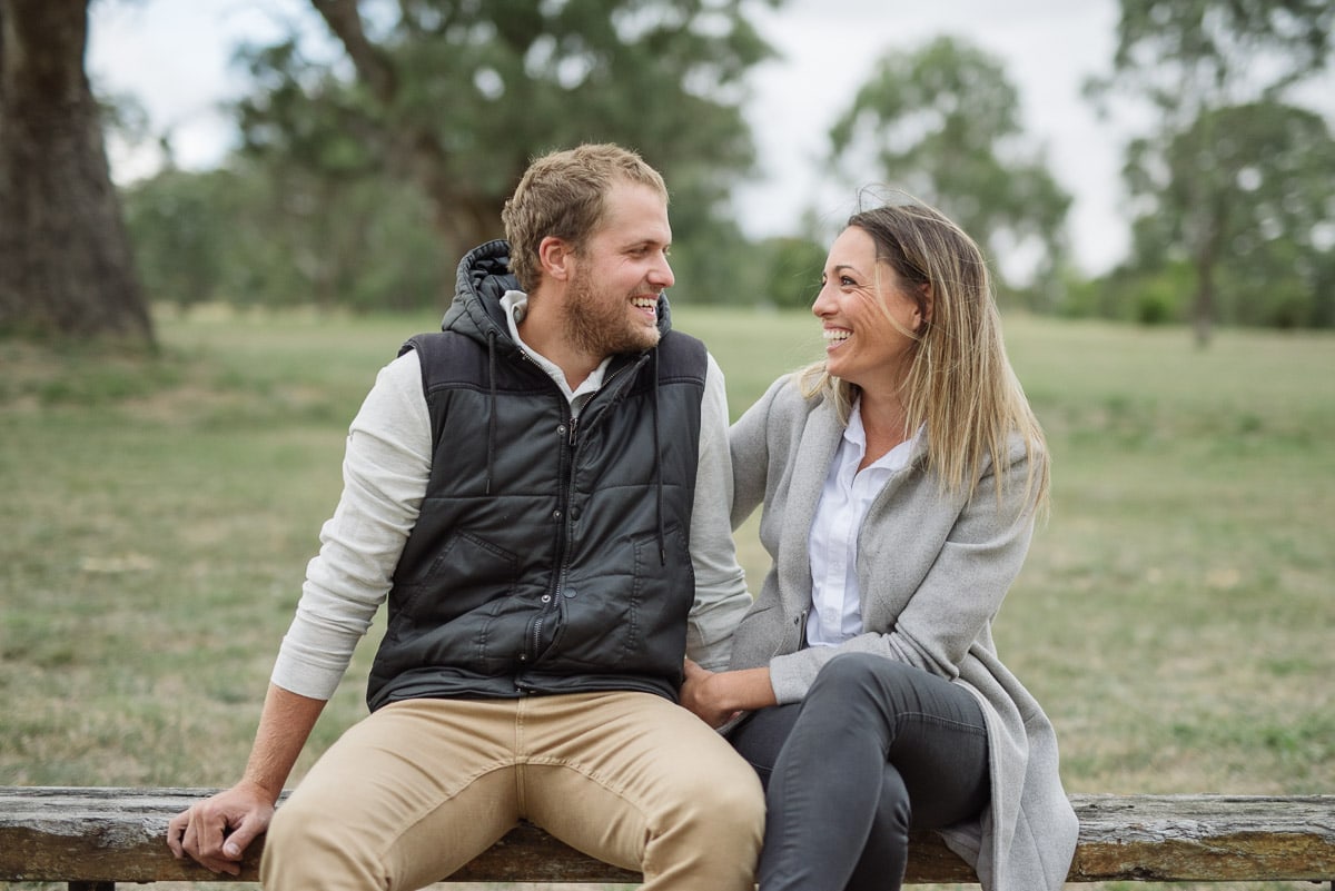
[[[1136,227],[1168,237],[1160,253],[1195,268],[1192,320],[1202,345],[1210,341],[1219,309],[1215,283],[1231,251],[1220,239],[1236,231],[1240,208],[1255,201],[1256,159],[1274,140],[1314,144],[1311,121],[1298,123],[1280,103],[1292,101],[1295,87],[1330,64],[1332,28],[1330,0],[1121,0],[1112,73],[1092,80],[1089,92],[1105,109],[1124,96],[1151,112],[1152,123],[1128,147]],[[1244,148],[1242,139],[1258,141]],[[1268,188],[1279,183],[1275,175],[1268,180]],[[1306,185],[1286,180],[1279,188],[1298,195]],[[1160,215],[1172,219],[1165,224],[1155,219]],[[1276,247],[1303,233],[1275,225],[1302,227],[1310,215],[1246,219],[1252,240]]]

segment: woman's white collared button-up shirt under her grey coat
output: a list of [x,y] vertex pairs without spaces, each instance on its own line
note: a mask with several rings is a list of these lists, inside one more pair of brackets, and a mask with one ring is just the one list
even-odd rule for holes
[[830,462],[821,502],[812,518],[808,551],[812,563],[812,612],[806,619],[806,643],[833,647],[862,634],[862,592],[857,584],[857,534],[872,500],[886,480],[908,467],[918,431],[862,471],[866,431],[861,403],[853,405],[844,437]]

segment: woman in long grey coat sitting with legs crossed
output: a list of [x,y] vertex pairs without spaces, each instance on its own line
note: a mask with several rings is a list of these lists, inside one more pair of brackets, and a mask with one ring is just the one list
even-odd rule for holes
[[886,205],[834,240],[825,360],[730,433],[733,524],[764,500],[773,559],[732,670],[684,702],[766,783],[761,891],[898,888],[940,830],[988,891],[1059,888],[1076,819],[1039,703],[992,619],[1044,508],[1043,432],[1001,344],[977,245]]

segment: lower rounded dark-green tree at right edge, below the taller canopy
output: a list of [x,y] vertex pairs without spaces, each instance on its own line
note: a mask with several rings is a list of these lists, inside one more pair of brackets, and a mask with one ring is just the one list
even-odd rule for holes
[[1335,249],[1335,139],[1320,115],[1276,101],[1202,112],[1167,145],[1131,144],[1133,193],[1152,209],[1133,225],[1144,271],[1181,253],[1195,272],[1193,319],[1320,324]]

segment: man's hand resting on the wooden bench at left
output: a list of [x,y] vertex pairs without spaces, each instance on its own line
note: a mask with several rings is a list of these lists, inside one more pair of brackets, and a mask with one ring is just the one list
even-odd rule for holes
[[272,796],[243,780],[174,816],[167,847],[178,860],[190,855],[214,872],[238,875],[246,848],[272,816]]

